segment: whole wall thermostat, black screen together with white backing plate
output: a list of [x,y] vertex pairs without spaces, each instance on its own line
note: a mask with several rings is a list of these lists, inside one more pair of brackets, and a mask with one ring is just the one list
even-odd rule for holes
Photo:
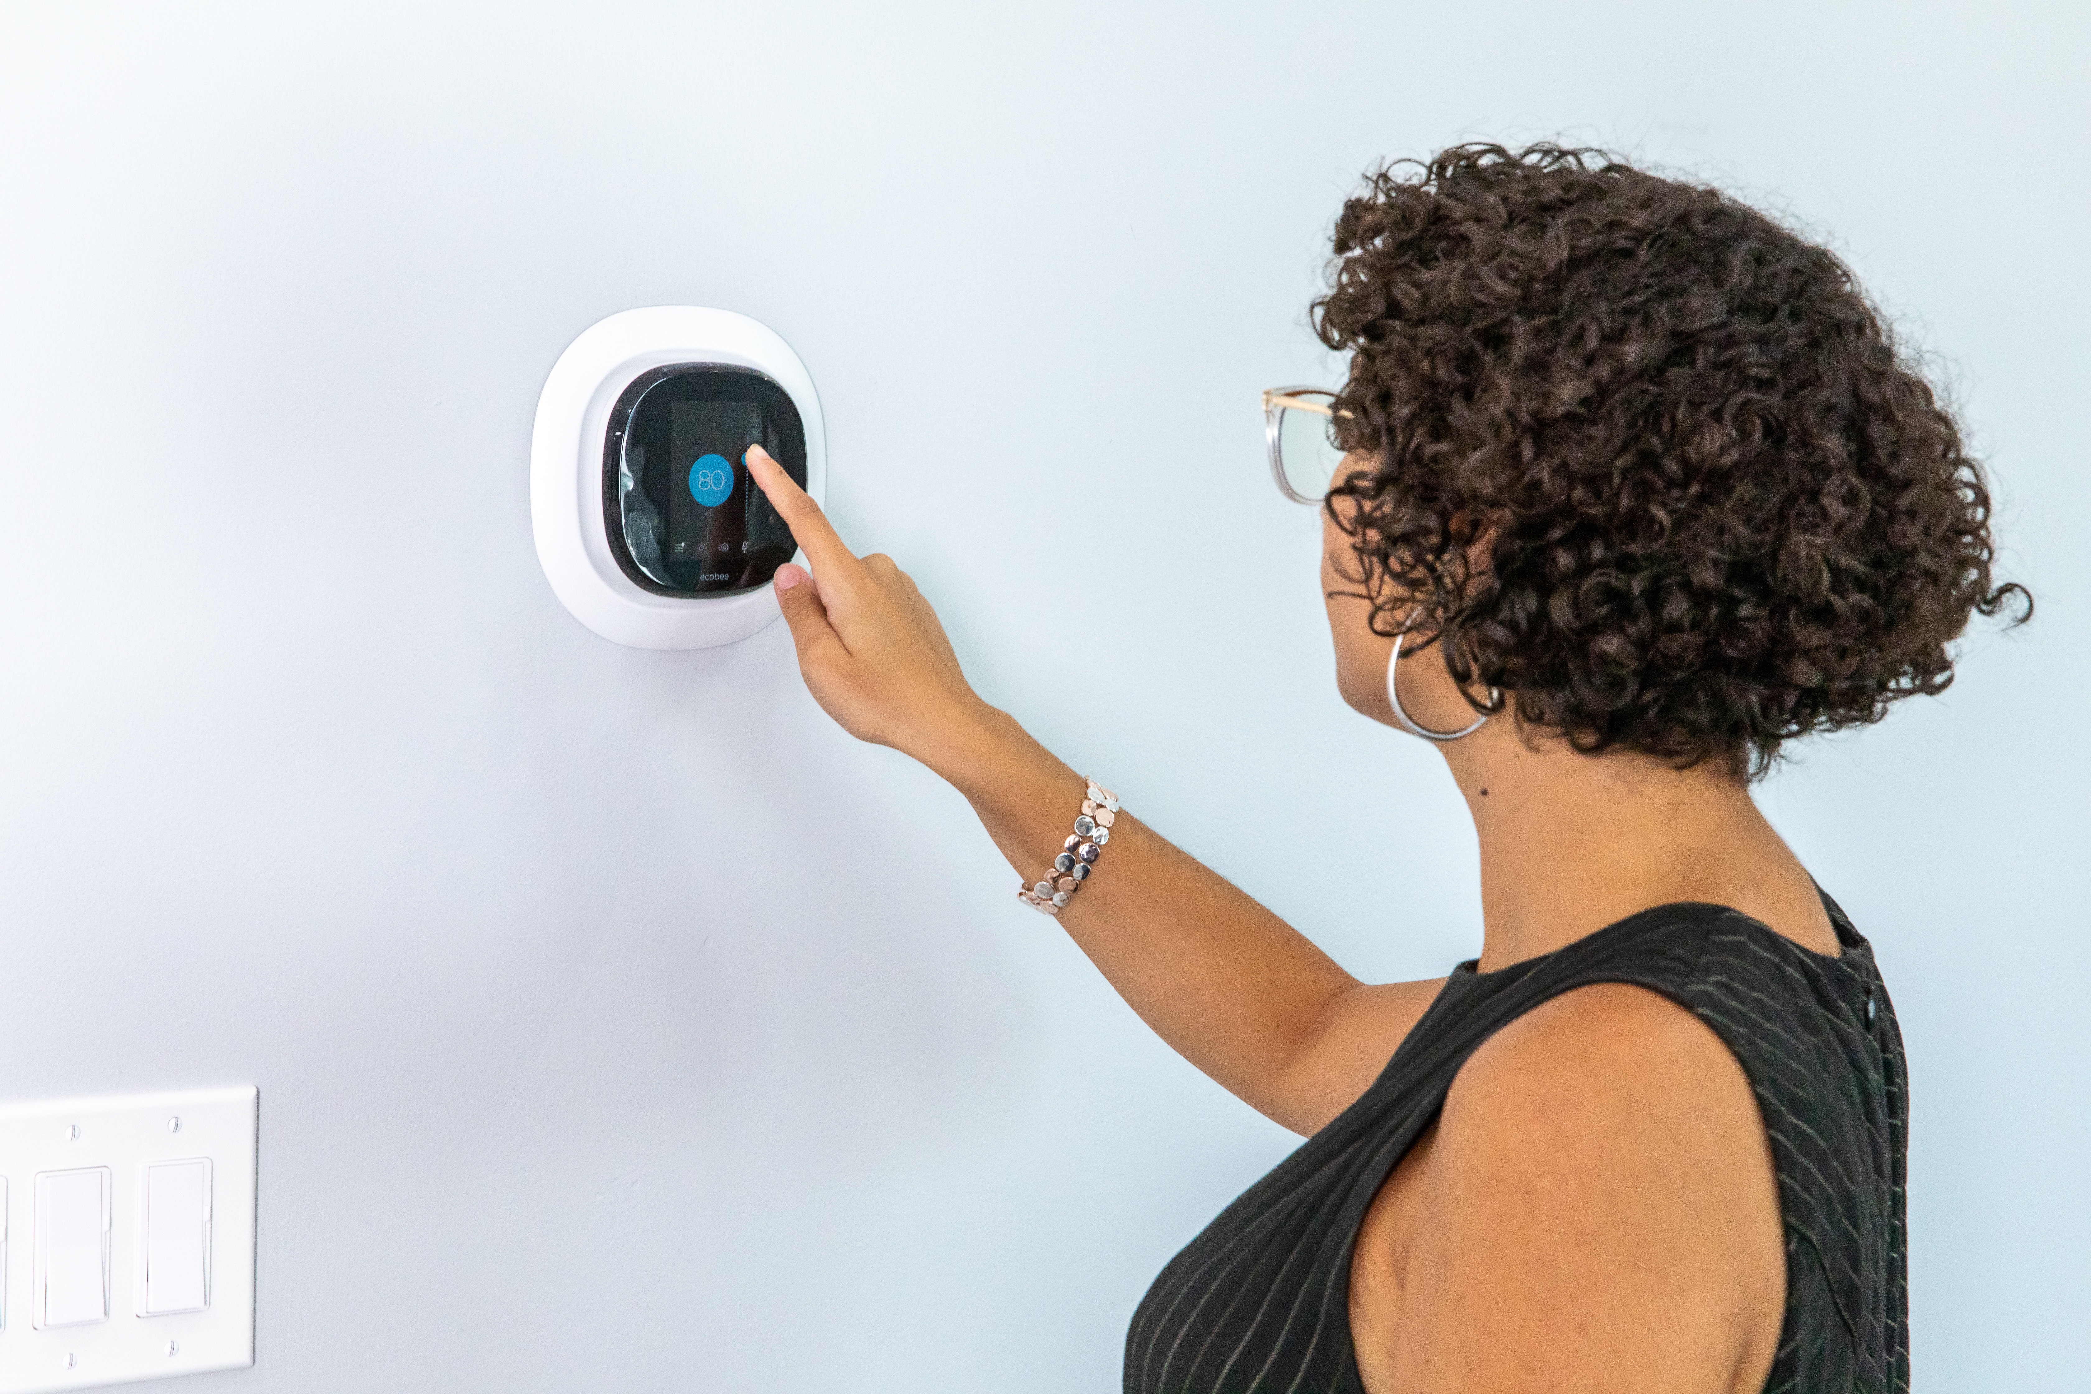
[[552,364],[531,435],[537,560],[573,617],[631,648],[711,648],[778,617],[801,560],[740,456],[761,445],[822,502],[828,449],[805,364],[730,309],[625,309]]

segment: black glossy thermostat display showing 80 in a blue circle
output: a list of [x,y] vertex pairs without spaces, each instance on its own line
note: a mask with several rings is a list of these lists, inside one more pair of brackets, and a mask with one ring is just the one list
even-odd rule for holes
[[602,449],[602,518],[627,577],[657,596],[769,583],[799,543],[740,462],[749,445],[805,487],[799,408],[759,372],[657,368],[625,389]]

